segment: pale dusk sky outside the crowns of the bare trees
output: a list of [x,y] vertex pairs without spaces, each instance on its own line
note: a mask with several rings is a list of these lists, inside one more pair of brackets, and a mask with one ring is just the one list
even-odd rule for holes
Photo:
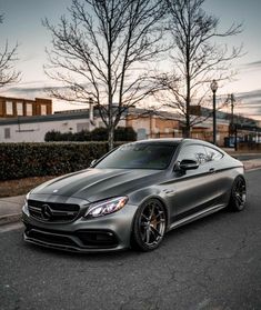
[[[48,63],[46,48],[51,36],[42,26],[48,18],[57,23],[67,13],[71,0],[0,0],[0,49],[8,39],[10,47],[19,43],[16,68],[22,72],[19,83],[0,89],[0,96],[33,99],[47,97],[42,88],[53,84],[43,72]],[[237,98],[235,113],[261,120],[261,0],[205,0],[207,12],[220,18],[220,29],[243,22],[243,32],[228,40],[228,46],[243,43],[244,56],[233,62],[237,80],[222,84],[217,91],[218,102],[229,93]],[[211,93],[210,93],[211,96]],[[76,109],[54,101],[54,110]]]

